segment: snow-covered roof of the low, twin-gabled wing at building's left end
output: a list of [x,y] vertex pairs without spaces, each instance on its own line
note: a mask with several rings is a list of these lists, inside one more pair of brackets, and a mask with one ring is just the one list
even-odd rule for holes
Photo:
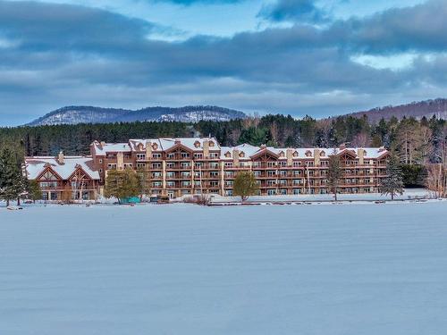
[[34,180],[50,166],[63,180],[68,180],[79,167],[93,180],[99,180],[99,173],[93,170],[93,160],[86,156],[64,156],[63,163],[57,157],[26,157],[25,171],[28,179]]

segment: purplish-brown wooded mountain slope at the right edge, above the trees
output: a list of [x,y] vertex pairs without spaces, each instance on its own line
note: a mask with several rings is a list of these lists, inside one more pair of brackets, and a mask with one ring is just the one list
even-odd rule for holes
[[414,102],[407,105],[397,106],[385,106],[380,108],[374,108],[369,111],[350,113],[349,115],[354,117],[362,117],[367,115],[369,121],[380,121],[384,118],[390,120],[393,116],[398,119],[402,119],[404,116],[415,119],[431,118],[435,116],[438,119],[447,119],[447,99],[434,99],[420,102]]

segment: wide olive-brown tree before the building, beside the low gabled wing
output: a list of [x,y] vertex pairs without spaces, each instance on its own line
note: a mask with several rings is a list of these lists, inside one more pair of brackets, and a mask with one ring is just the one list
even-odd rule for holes
[[122,171],[111,170],[105,179],[105,197],[117,197],[121,204],[121,199],[127,197],[138,197],[140,192],[139,178],[133,170]]

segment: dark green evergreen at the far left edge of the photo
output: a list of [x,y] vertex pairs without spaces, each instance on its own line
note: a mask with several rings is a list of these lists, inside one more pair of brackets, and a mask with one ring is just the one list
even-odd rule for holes
[[0,198],[9,205],[13,199],[19,199],[24,191],[23,175],[16,155],[9,147],[0,153]]

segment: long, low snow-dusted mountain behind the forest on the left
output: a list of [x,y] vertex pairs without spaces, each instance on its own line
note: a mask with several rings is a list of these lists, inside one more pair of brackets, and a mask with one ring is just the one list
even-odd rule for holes
[[37,120],[31,121],[28,125],[40,126],[131,121],[229,121],[233,119],[244,119],[246,117],[247,115],[240,111],[209,105],[185,106],[180,108],[148,107],[136,111],[92,106],[68,106],[47,113]]

